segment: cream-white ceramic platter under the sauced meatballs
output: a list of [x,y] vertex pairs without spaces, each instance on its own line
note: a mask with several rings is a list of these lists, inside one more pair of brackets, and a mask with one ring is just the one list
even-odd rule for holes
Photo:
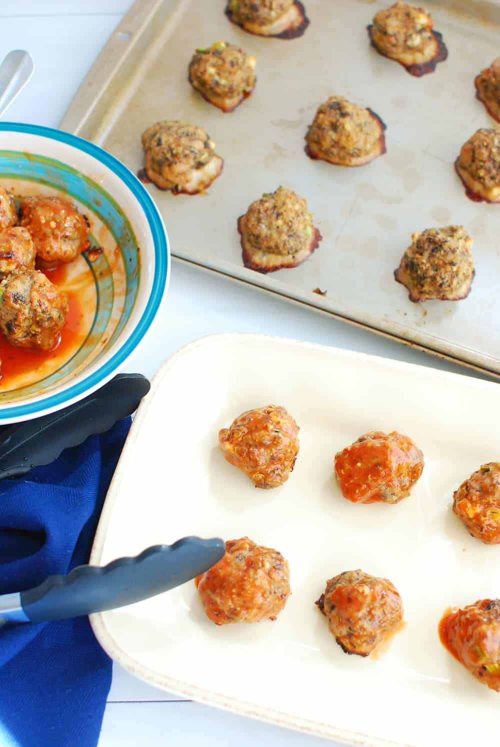
[[[246,409],[280,404],[301,427],[286,485],[254,489],[217,444]],[[453,490],[499,458],[500,388],[331,347],[220,335],[190,344],[154,378],[116,471],[91,562],[181,536],[249,535],[290,562],[276,622],[216,627],[193,583],[93,616],[104,649],[150,684],[278,725],[369,747],[469,747],[496,734],[500,695],[448,654],[450,604],[500,596],[500,546],[466,533]],[[368,430],[399,430],[425,456],[410,498],[354,505],[334,453]],[[349,657],[314,606],[351,568],[389,577],[407,627],[378,659]]]

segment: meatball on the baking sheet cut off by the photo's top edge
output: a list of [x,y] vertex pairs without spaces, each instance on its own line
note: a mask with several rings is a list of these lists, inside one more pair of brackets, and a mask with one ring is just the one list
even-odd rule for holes
[[228,0],[226,16],[250,34],[295,39],[309,25],[299,0]]

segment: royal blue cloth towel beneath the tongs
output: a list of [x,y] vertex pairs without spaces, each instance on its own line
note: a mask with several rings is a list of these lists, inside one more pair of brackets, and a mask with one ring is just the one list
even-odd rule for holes
[[[0,483],[0,594],[88,562],[130,423]],[[110,684],[87,617],[1,627],[1,747],[95,747]]]

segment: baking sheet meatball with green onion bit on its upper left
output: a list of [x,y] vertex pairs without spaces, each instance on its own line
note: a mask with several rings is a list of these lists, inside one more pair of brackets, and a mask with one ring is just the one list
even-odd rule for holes
[[227,42],[197,49],[189,67],[189,79],[207,102],[222,111],[233,111],[250,96],[255,85],[257,60]]

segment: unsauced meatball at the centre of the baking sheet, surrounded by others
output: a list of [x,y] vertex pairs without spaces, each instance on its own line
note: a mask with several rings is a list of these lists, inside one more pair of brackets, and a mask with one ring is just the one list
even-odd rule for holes
[[385,153],[385,125],[371,109],[330,96],[307,131],[305,152],[338,166],[363,166]]

